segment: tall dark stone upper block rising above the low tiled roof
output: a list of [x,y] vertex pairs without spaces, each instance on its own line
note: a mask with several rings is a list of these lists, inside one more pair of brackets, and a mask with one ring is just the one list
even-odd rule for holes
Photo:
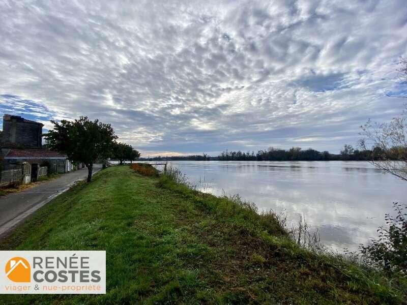
[[16,115],[3,116],[3,146],[21,144],[28,147],[42,147],[42,124],[24,120]]

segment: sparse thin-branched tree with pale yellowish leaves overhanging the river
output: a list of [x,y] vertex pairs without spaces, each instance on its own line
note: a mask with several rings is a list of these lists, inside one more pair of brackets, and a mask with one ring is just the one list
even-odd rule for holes
[[367,123],[360,127],[363,150],[372,147],[371,163],[387,173],[407,181],[407,104],[401,116],[390,123]]

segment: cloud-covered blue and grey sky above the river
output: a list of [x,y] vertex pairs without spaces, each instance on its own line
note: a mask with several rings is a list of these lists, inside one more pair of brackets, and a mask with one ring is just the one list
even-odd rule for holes
[[0,20],[0,114],[98,118],[142,157],[338,153],[406,102],[405,0],[0,0]]

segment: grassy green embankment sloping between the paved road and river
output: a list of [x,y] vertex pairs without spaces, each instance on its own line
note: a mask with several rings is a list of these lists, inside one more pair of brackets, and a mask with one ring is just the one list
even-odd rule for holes
[[1,250],[106,250],[106,295],[0,295],[0,303],[402,303],[386,279],[317,256],[273,215],[108,168],[55,198]]

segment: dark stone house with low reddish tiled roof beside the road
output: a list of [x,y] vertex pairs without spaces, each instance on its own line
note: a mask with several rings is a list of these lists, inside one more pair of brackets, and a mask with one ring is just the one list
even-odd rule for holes
[[42,147],[42,127],[42,123],[21,116],[3,116],[2,170],[17,169],[21,168],[22,164],[30,164],[32,179],[35,180],[41,166],[47,166],[50,172],[57,173],[72,169],[72,164],[65,154]]

